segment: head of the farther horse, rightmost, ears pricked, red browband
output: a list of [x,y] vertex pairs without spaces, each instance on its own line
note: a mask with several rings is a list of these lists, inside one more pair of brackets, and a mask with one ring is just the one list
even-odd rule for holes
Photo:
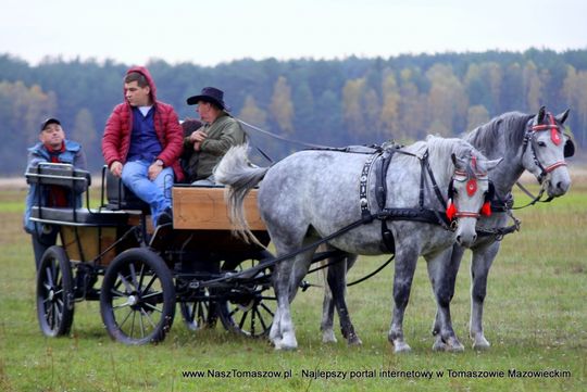
[[571,176],[565,157],[573,156],[575,146],[563,132],[569,109],[559,115],[548,113],[545,106],[527,123],[522,148],[522,164],[530,172],[550,198],[566,193]]

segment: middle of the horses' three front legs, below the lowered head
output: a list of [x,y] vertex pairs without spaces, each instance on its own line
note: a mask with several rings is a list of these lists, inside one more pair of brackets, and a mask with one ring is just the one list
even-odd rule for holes
[[426,260],[428,277],[436,298],[436,318],[433,327],[433,334],[436,336],[433,345],[435,351],[460,352],[464,350],[452,329],[450,316],[450,301],[454,295],[461,255],[462,252],[459,250],[453,251],[452,248],[449,248],[430,260]]

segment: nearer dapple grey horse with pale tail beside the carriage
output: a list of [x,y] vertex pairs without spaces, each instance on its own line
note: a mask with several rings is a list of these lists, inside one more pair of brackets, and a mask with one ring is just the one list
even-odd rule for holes
[[[429,137],[425,142],[416,142],[402,151],[413,155],[394,155],[390,164],[394,168],[385,177],[389,190],[385,205],[417,208],[422,198],[424,206],[444,210],[430,190],[429,176],[421,176],[425,170],[421,160],[427,156],[428,167],[445,197],[452,184],[453,204],[459,213],[455,231],[423,222],[389,223],[395,239],[396,269],[395,309],[388,339],[397,352],[410,350],[403,339],[402,324],[419,255],[424,255],[428,263],[436,263],[455,240],[464,246],[474,243],[477,212],[489,190],[487,172],[499,163],[498,160],[487,161],[471,144],[460,139]],[[259,210],[277,255],[280,256],[296,253],[304,245],[314,244],[316,240],[361,220],[359,184],[364,176],[362,168],[369,156],[336,151],[302,151],[274,166],[253,167],[247,160],[247,146],[241,146],[227,152],[215,170],[215,178],[228,186],[227,199],[233,222],[248,236],[251,232],[243,216],[242,200],[252,187],[263,180],[258,193]],[[376,181],[371,178],[374,174],[369,177],[366,201],[376,205]],[[426,192],[421,192],[423,179],[427,185]],[[389,252],[382,238],[380,222],[376,219],[333,238],[328,244],[349,254],[375,255]],[[275,265],[273,278],[277,311],[270,339],[276,349],[296,349],[298,345],[289,306],[316,246],[298,252],[295,257]],[[346,309],[344,298],[335,300],[337,308],[341,303]],[[454,350],[462,350],[454,337],[449,312],[444,314],[440,323],[448,344]],[[348,325],[352,326],[350,319]],[[352,330],[346,333],[354,336]]]

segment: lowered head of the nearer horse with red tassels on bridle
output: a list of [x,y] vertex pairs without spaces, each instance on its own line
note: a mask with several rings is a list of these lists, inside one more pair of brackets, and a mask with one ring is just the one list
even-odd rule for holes
[[452,153],[451,159],[454,173],[448,191],[447,217],[457,224],[457,242],[469,248],[477,239],[475,226],[479,216],[491,214],[495,190],[487,174],[502,159],[489,161],[473,149],[462,156]]

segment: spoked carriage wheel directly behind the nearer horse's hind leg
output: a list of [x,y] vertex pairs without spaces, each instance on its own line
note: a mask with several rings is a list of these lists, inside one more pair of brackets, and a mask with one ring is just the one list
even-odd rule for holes
[[[238,269],[245,270],[268,258],[273,258],[273,255],[262,251],[254,257],[242,261]],[[260,270],[250,283],[228,290],[225,293],[226,300],[217,302],[218,316],[224,328],[251,338],[268,334],[277,308],[271,273],[270,268]]]

